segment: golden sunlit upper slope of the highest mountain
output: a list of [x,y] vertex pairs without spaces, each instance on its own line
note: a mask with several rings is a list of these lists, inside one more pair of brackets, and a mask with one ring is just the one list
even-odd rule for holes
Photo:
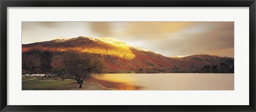
[[[66,43],[77,44],[67,45]],[[82,42],[82,45],[79,44]],[[51,46],[47,46],[53,44]],[[91,44],[97,44],[93,46]],[[67,45],[67,46],[66,46]],[[26,46],[26,45],[25,45]],[[110,39],[110,38],[99,38],[94,39],[91,37],[77,37],[71,39],[57,39],[52,41],[46,41],[41,44],[34,44],[34,46],[22,46],[22,52],[26,52],[32,49],[38,50],[50,50],[50,51],[79,51],[82,53],[94,53],[100,55],[111,55],[117,56],[125,59],[133,59],[135,55],[130,50],[130,46],[126,45],[124,42]],[[103,47],[102,47],[103,46]]]

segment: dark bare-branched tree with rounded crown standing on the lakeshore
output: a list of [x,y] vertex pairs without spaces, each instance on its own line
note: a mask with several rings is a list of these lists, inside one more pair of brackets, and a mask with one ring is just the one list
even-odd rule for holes
[[62,64],[54,67],[53,74],[63,80],[74,79],[79,83],[79,88],[82,88],[85,79],[102,73],[104,68],[102,58],[96,55],[66,53],[63,54]]

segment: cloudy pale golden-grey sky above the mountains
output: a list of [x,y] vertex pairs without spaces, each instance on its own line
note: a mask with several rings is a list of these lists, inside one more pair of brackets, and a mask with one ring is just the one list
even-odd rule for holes
[[234,22],[22,22],[22,44],[78,36],[114,38],[167,57],[234,56]]

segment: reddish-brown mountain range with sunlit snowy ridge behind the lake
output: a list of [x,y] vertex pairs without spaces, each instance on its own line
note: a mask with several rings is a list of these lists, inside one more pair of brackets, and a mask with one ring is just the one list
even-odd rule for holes
[[120,40],[82,36],[22,44],[22,65],[39,66],[39,54],[44,50],[52,52],[52,66],[60,64],[67,51],[100,55],[107,73],[234,73],[234,57],[207,54],[166,57]]

